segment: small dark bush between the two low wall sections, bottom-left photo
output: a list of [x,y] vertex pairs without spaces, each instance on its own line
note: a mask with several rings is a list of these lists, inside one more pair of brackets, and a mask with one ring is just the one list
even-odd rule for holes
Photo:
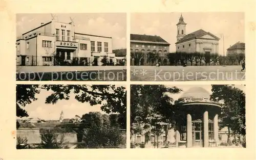
[[58,140],[58,135],[53,131],[53,129],[44,130],[40,134],[41,143],[39,148],[43,149],[61,149],[63,148],[64,143],[64,135],[60,135],[60,139]]

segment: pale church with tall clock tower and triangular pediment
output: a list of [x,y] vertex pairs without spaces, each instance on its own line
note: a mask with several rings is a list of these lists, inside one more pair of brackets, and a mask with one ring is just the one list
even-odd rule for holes
[[177,25],[176,52],[200,52],[208,54],[219,53],[219,40],[217,36],[202,29],[186,34],[186,24],[182,14]]

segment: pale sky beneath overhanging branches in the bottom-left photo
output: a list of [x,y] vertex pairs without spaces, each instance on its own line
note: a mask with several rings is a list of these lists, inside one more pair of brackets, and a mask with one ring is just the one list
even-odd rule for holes
[[[116,85],[118,86],[118,85]],[[41,89],[39,94],[35,97],[37,100],[25,106],[25,110],[28,112],[29,117],[18,119],[44,119],[44,120],[59,120],[60,113],[63,111],[63,118],[75,118],[75,115],[82,116],[89,112],[100,112],[106,114],[100,110],[101,105],[91,106],[90,103],[81,103],[75,99],[75,94],[71,92],[69,100],[58,100],[56,104],[45,104],[46,97],[48,97],[52,91]]]

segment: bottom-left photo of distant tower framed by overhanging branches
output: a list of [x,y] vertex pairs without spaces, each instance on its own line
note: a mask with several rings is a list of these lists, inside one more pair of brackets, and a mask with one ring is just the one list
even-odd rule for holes
[[16,85],[16,148],[126,148],[126,86]]

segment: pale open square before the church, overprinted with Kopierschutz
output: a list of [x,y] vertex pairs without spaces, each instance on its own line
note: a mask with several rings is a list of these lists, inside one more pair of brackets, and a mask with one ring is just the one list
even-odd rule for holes
[[131,81],[244,81],[241,66],[131,66]]

